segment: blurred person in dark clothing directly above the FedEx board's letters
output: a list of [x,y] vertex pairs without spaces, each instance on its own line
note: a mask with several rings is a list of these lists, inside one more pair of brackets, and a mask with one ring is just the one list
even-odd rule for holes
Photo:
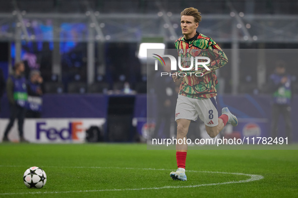
[[28,89],[28,106],[26,118],[40,118],[42,109],[42,82],[40,71],[32,70],[30,72],[30,79],[27,83]]

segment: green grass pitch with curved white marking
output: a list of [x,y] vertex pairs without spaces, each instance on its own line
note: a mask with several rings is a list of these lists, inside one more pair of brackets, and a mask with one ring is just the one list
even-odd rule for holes
[[[46,172],[43,188],[24,185],[31,166]],[[144,144],[6,143],[0,197],[298,197],[298,150],[189,150],[186,168],[173,181],[175,151]]]

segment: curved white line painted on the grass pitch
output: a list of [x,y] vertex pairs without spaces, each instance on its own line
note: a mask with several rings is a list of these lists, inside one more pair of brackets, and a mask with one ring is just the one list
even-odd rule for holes
[[[0,165],[0,167],[24,167],[23,165]],[[27,167],[27,166],[26,166]],[[43,167],[62,167],[62,166],[43,166]],[[155,168],[123,168],[123,167],[83,167],[83,166],[63,166],[64,168],[102,168],[102,169],[138,169],[138,170],[170,170],[170,169],[155,169]],[[148,187],[148,188],[124,188],[124,189],[98,189],[98,190],[73,190],[73,191],[45,191],[45,192],[7,192],[0,193],[0,195],[16,195],[16,194],[58,194],[58,193],[78,193],[78,192],[102,192],[102,191],[125,191],[125,190],[158,190],[158,189],[168,189],[168,188],[191,188],[191,187],[202,187],[202,186],[210,186],[210,185],[223,185],[223,184],[231,184],[231,183],[245,183],[251,181],[257,181],[263,179],[262,175],[256,174],[245,174],[245,173],[237,173],[237,172],[218,172],[218,171],[199,171],[199,170],[187,170],[188,172],[205,172],[205,173],[218,173],[218,174],[234,174],[234,175],[245,175],[250,176],[249,179],[240,180],[240,181],[226,181],[220,183],[206,183],[199,185],[187,185],[187,186],[162,186],[162,187]]]

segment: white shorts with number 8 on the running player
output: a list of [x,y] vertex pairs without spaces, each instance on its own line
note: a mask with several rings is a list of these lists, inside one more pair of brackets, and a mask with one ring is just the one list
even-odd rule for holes
[[178,95],[175,111],[175,121],[187,119],[196,121],[199,118],[208,127],[218,125],[216,97],[197,99]]

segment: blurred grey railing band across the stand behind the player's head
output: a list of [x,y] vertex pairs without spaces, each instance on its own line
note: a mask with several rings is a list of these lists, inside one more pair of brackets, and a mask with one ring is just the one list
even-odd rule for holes
[[[170,15],[170,17],[162,17]],[[231,17],[231,15],[233,17]],[[270,42],[298,43],[298,15],[203,15],[199,32],[217,42]],[[0,14],[1,41],[72,41],[64,36],[66,24],[82,24],[86,30],[78,34],[76,41],[87,42],[139,42],[142,37],[164,37],[164,41],[176,40],[182,35],[180,15],[156,14],[27,14],[14,11]],[[34,31],[33,27],[37,30]],[[42,31],[42,28],[46,31]],[[19,30],[18,30],[19,29]]]

